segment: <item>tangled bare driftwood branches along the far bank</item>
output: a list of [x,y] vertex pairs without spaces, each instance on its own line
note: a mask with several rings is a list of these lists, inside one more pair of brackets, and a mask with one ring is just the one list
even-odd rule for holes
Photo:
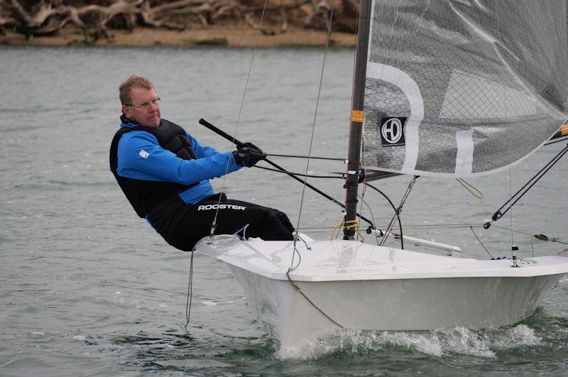
[[[289,24],[353,32],[358,0],[0,0],[0,34],[26,38],[53,35],[67,25],[87,40],[113,39],[111,29],[138,27],[183,30],[216,23],[246,23],[263,34],[285,33]],[[76,5],[75,5],[76,3]],[[334,10],[334,21],[329,16]]]

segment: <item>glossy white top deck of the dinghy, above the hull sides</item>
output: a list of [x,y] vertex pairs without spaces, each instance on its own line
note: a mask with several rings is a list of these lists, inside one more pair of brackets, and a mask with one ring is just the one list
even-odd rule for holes
[[[510,259],[479,261],[472,258],[436,256],[428,253],[373,246],[359,241],[297,243],[299,266],[290,272],[296,281],[390,280],[417,278],[530,277],[568,273],[568,258],[540,256],[521,258],[520,268]],[[239,241],[217,236],[205,238],[196,251],[247,271],[276,280],[288,280],[293,257],[292,241]],[[300,260],[295,255],[295,265]]]

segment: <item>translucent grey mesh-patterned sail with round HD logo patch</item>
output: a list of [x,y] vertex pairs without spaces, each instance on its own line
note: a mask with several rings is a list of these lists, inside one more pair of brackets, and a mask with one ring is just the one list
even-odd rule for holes
[[467,177],[535,151],[568,112],[565,0],[376,0],[364,168]]

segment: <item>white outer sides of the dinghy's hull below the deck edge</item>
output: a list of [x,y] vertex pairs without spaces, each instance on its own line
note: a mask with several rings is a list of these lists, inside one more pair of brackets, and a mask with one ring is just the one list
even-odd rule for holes
[[[288,281],[227,265],[256,317],[281,347],[310,342],[339,327]],[[480,329],[532,315],[562,275],[532,278],[429,278],[302,282],[302,292],[347,329]]]

